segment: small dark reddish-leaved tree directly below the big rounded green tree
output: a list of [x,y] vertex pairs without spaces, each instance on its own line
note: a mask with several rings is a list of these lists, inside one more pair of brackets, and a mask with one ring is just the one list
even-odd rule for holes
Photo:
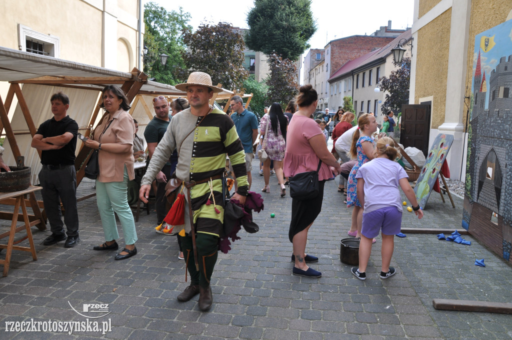
[[269,102],[278,102],[286,107],[298,93],[297,67],[293,61],[276,53],[268,56],[268,64],[271,72],[267,79]]

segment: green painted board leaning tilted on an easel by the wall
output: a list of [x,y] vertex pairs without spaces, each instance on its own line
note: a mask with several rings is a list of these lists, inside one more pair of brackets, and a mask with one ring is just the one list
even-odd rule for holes
[[452,143],[453,135],[439,134],[434,139],[429,154],[426,156],[425,165],[423,165],[414,187],[416,199],[422,209],[429,200],[434,184],[438,181],[439,171],[446,159],[446,154],[450,151]]

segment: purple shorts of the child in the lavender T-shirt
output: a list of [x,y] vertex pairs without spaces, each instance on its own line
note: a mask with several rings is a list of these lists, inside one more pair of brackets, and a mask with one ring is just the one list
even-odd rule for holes
[[361,233],[369,239],[379,235],[382,229],[384,235],[396,235],[400,232],[402,213],[396,206],[388,206],[362,214]]

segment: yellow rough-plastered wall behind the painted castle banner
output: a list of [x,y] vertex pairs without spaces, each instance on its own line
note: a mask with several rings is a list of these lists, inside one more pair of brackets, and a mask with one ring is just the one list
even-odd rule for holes
[[[512,11],[512,2],[510,0],[474,0],[471,8],[471,22],[469,41],[467,48],[467,74],[466,74],[466,94],[471,96],[471,86],[473,83],[473,58],[475,51],[475,36],[490,28],[498,26],[506,21],[507,15]],[[482,53],[480,57],[484,57]],[[508,53],[510,54],[510,53]],[[508,55],[504,55],[508,57]],[[487,81],[490,74],[486,74]],[[469,99],[466,101],[469,104]],[[464,112],[464,121],[466,112]]]

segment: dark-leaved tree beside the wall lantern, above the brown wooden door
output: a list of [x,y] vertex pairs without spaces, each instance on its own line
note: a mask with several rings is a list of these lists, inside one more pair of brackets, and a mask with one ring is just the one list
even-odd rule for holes
[[381,112],[392,110],[395,115],[402,111],[402,104],[409,103],[409,86],[411,83],[411,58],[403,57],[398,70],[391,71],[389,77],[378,79],[380,91],[386,91],[386,100]]

